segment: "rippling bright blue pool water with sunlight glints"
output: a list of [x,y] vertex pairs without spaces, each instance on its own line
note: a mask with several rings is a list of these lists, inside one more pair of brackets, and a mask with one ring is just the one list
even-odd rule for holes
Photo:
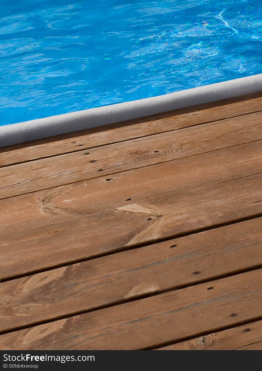
[[0,0],[0,125],[262,73],[261,0]]

